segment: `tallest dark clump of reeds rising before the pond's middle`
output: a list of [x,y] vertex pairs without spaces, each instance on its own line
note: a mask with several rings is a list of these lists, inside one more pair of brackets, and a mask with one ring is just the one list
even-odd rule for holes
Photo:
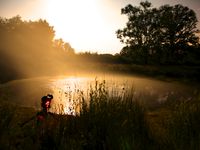
[[[80,122],[87,149],[146,149],[151,139],[145,110],[133,95],[109,97],[105,82],[90,91],[89,106],[83,101]],[[147,144],[148,143],[148,144]]]

